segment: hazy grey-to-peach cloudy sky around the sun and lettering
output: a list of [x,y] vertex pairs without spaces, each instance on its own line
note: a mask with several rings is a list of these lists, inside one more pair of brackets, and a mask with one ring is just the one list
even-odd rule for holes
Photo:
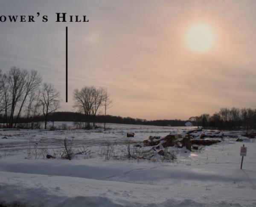
[[[254,0],[0,0],[0,15],[48,16],[47,23],[0,22],[0,68],[38,70],[61,91],[60,111],[75,111],[74,89],[90,85],[108,89],[111,115],[189,119],[255,108],[255,8]],[[56,12],[89,22],[56,23]],[[203,52],[186,39],[198,24],[213,38]]]

